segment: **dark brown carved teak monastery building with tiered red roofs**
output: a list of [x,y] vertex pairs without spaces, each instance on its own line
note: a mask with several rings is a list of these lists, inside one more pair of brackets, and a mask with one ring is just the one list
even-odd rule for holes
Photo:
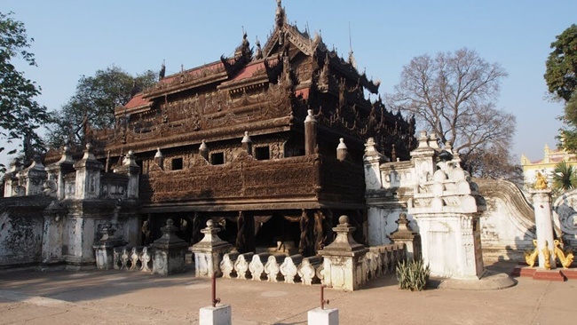
[[393,160],[415,147],[415,122],[367,99],[378,86],[352,53],[342,59],[289,24],[279,1],[264,46],[245,34],[232,58],[175,75],[162,67],[91,142],[108,169],[136,155],[144,242],[167,218],[197,242],[212,218],[241,252],[284,242],[308,256],[332,241],[341,214],[366,242],[365,141]]

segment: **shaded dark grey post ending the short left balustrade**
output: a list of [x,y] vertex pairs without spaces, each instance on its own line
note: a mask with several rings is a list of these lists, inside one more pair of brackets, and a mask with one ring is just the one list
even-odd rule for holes
[[161,228],[162,237],[153,242],[153,273],[170,275],[185,272],[185,254],[188,244],[175,234],[178,227],[172,219]]

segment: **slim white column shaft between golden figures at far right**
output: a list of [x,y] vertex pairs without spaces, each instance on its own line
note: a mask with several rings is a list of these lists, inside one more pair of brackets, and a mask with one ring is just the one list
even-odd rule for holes
[[[539,251],[539,268],[554,269],[556,264],[553,220],[551,217],[551,190],[534,190],[531,194],[533,196],[535,226],[537,228],[536,249]],[[549,251],[545,250],[546,248]]]

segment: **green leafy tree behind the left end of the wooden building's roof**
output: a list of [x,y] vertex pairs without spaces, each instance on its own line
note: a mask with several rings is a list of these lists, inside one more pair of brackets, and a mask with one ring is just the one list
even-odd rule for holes
[[67,142],[82,144],[84,123],[95,130],[114,126],[115,107],[126,104],[135,92],[155,81],[151,70],[132,76],[115,66],[98,70],[94,76],[81,76],[75,95],[52,112],[47,141],[51,147],[62,147]]

